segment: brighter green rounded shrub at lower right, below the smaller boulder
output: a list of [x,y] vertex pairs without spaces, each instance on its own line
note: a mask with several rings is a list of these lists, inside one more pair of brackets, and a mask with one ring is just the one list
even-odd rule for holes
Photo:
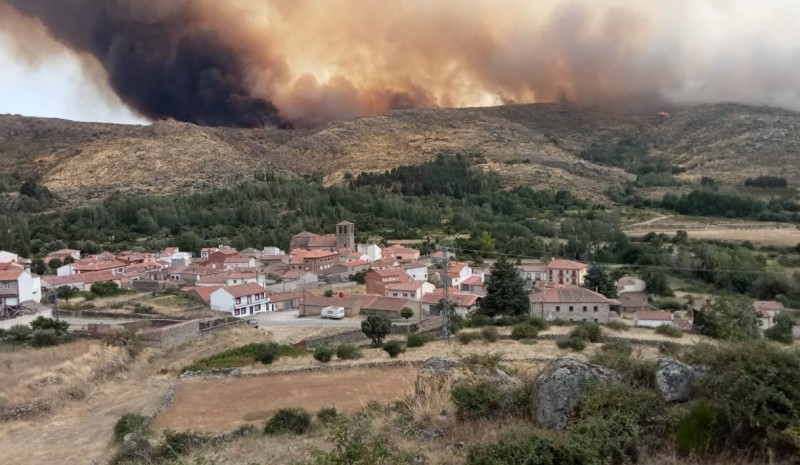
[[695,403],[675,425],[675,449],[681,455],[704,455],[720,441],[721,418],[704,400]]

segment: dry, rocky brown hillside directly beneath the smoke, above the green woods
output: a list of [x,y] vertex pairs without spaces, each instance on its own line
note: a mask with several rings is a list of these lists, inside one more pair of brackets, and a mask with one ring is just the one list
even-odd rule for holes
[[[0,116],[0,170],[37,173],[73,201],[114,192],[185,192],[237,183],[255,172],[346,174],[383,171],[442,150],[476,153],[509,185],[569,188],[599,197],[631,179],[577,157],[592,144],[624,136],[647,141],[688,169],[740,180],[754,174],[800,174],[800,114],[719,104],[669,118],[619,116],[572,105],[396,111],[331,123],[316,131],[77,123]],[[757,161],[754,163],[754,161]],[[781,167],[775,173],[774,167]],[[791,176],[789,176],[791,175]]]

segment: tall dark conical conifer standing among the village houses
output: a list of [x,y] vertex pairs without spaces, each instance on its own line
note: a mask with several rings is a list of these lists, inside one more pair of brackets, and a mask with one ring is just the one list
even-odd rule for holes
[[487,316],[525,315],[530,301],[525,281],[514,264],[501,257],[492,266],[492,279],[486,285],[486,297],[478,304],[479,312]]

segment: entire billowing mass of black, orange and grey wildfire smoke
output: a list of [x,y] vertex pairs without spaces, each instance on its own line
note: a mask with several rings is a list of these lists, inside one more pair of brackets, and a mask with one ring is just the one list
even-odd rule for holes
[[758,9],[746,0],[3,3],[93,57],[114,92],[152,119],[316,126],[399,108],[545,101],[800,109],[794,0]]

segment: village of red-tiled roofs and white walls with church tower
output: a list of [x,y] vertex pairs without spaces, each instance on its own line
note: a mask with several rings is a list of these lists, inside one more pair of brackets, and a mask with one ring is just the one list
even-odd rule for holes
[[[303,231],[294,235],[288,253],[278,247],[239,251],[225,245],[203,248],[197,257],[174,247],[158,253],[90,255],[61,249],[44,257],[53,272],[44,275],[33,273],[31,262],[0,252],[0,327],[4,329],[38,316],[57,317],[59,294],[63,309],[69,300],[64,297],[89,293],[98,283],[134,294],[176,293],[197,303],[195,308],[205,308],[204,317],[230,317],[255,327],[276,321],[291,326],[292,320],[304,326],[303,320],[326,316],[347,320],[339,326],[357,327],[364,315],[382,315],[402,325],[439,316],[445,298],[458,315],[471,315],[491,279],[489,266],[457,261],[446,250],[422,256],[405,245],[357,243],[355,225],[348,221],[338,223],[334,234]],[[529,292],[530,316],[600,324],[625,320],[632,326],[667,325],[689,331],[691,311],[713,303],[712,298],[701,298],[687,311],[653,308],[645,282],[629,275],[616,281],[617,292],[609,298],[584,287],[589,268],[587,263],[566,259],[520,261],[517,270]],[[401,316],[404,308],[413,310],[413,316]],[[762,330],[770,328],[785,310],[777,301],[756,301],[754,309]],[[276,312],[285,317],[271,318]],[[71,324],[95,332],[117,326],[107,314],[94,322],[87,314],[91,312]],[[125,323],[130,321],[120,324]],[[800,325],[795,325],[793,334],[800,337]]]

